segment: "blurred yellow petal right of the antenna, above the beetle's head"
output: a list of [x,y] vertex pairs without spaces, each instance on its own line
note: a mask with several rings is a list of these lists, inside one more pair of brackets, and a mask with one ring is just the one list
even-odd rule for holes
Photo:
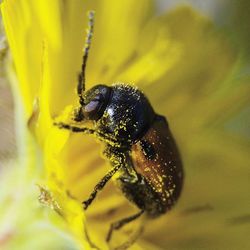
[[151,0],[97,2],[93,47],[87,69],[88,86],[120,80],[116,72],[134,56],[140,30],[154,10]]

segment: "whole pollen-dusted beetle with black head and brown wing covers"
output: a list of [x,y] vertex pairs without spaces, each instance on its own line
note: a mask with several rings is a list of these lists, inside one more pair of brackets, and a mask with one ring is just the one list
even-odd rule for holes
[[[140,211],[112,223],[107,234],[135,220],[143,213],[155,218],[166,213],[180,196],[183,183],[181,159],[165,117],[154,112],[148,99],[135,87],[114,84],[96,85],[85,91],[85,68],[93,34],[94,13],[89,12],[82,71],[77,93],[79,107],[72,124],[55,123],[72,132],[92,134],[105,143],[104,155],[112,169],[97,183],[83,202],[87,209],[97,193],[119,172],[118,186]],[[93,128],[83,127],[92,121]]]

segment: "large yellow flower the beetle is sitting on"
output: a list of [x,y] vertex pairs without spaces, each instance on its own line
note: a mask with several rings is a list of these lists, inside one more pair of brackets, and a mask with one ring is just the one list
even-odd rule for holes
[[[77,103],[86,13],[94,10],[86,87],[125,82],[141,88],[157,113],[168,117],[186,172],[180,202],[148,222],[133,249],[246,246],[247,228],[235,224],[237,218],[249,218],[249,142],[224,125],[249,104],[249,77],[239,77],[239,53],[210,20],[188,7],[156,16],[150,0],[5,0],[1,10],[15,69],[8,67],[19,127],[19,188],[25,200],[17,203],[25,214],[16,218],[19,230],[32,229],[24,224],[29,215],[31,221],[45,220],[34,205],[36,191],[27,192],[37,183],[41,203],[59,215],[47,209],[47,223],[63,232],[50,247],[60,249],[61,239],[72,248],[90,247],[81,201],[110,166],[93,138],[59,130],[53,121],[69,119]],[[32,206],[35,211],[29,214]],[[86,213],[91,240],[107,249],[110,222],[133,211],[110,182]],[[11,232],[23,247],[24,239]],[[127,237],[125,230],[117,232],[114,245]]]

